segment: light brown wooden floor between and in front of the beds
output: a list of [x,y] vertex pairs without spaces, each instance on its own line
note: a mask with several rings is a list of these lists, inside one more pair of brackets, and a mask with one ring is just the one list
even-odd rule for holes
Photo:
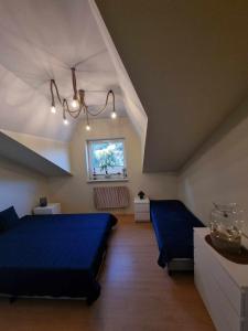
[[110,238],[100,276],[101,296],[84,301],[0,299],[0,331],[214,330],[193,275],[172,278],[157,265],[151,224],[122,216]]

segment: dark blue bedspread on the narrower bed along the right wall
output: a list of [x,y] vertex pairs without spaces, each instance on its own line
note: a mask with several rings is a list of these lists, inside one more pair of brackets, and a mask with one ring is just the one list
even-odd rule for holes
[[160,250],[158,264],[165,267],[173,258],[193,258],[193,227],[203,223],[177,200],[153,200],[150,209]]

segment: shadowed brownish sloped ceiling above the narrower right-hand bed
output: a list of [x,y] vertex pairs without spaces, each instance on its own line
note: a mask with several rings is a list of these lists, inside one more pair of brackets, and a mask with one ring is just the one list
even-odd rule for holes
[[248,1],[96,3],[148,115],[143,169],[176,171],[248,95]]

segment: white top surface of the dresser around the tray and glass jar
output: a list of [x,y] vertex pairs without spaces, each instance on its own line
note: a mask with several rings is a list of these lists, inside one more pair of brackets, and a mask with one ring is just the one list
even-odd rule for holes
[[198,236],[203,245],[206,249],[209,249],[213,256],[218,260],[222,267],[228,273],[230,278],[237,284],[240,288],[248,288],[248,265],[240,265],[233,263],[220,254],[218,254],[211,245],[208,245],[205,241],[205,236],[209,234],[209,228],[195,227],[194,228],[195,236]]

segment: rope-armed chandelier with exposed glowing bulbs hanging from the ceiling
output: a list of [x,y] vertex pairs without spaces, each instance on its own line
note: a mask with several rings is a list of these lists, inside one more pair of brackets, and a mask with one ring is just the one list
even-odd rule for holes
[[106,110],[108,103],[109,103],[109,97],[111,96],[112,100],[112,110],[111,110],[111,118],[115,119],[117,117],[116,114],[116,105],[115,105],[115,94],[111,89],[108,90],[106,100],[104,106],[98,109],[96,113],[93,113],[89,110],[88,105],[85,103],[85,90],[84,89],[77,89],[77,81],[76,81],[76,70],[75,67],[71,68],[72,71],[72,82],[73,82],[73,100],[72,100],[72,108],[68,105],[68,102],[66,98],[62,98],[61,94],[58,92],[58,87],[56,85],[56,82],[54,79],[50,81],[50,90],[51,90],[51,97],[52,97],[52,103],[51,103],[51,111],[53,114],[56,113],[56,104],[55,104],[55,96],[61,105],[62,111],[63,111],[63,121],[64,125],[68,125],[68,119],[67,117],[71,116],[73,118],[78,118],[79,115],[83,113],[86,117],[86,130],[89,131],[90,125],[89,125],[89,116],[96,117],[100,115],[103,111]]

